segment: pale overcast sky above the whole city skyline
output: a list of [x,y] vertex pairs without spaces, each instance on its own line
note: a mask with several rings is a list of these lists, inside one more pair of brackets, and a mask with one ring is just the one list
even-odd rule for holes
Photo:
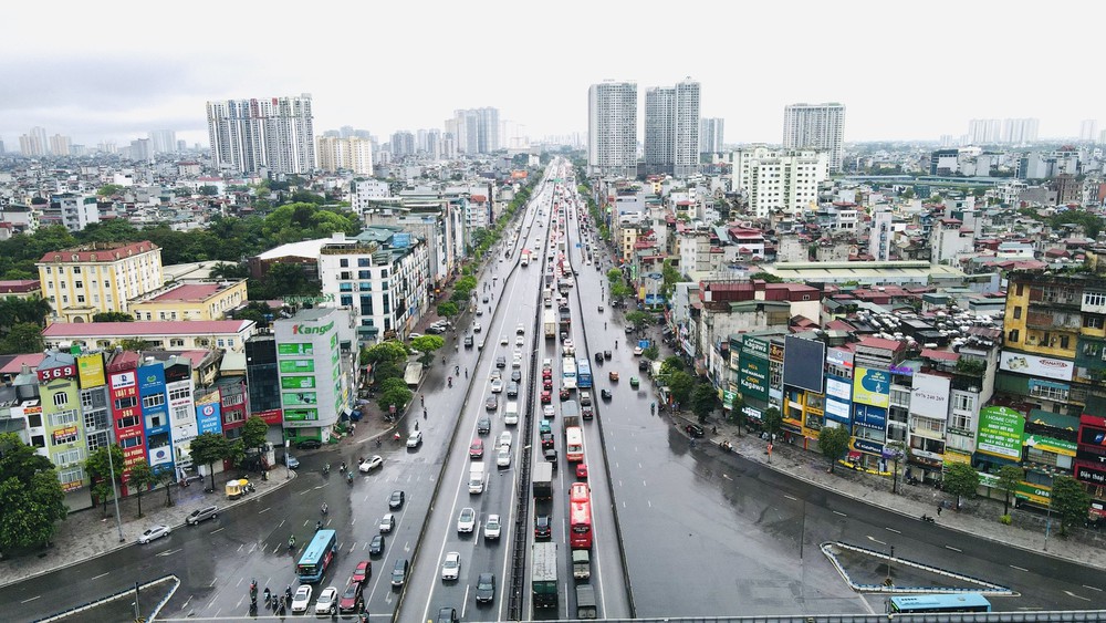
[[0,141],[15,150],[32,126],[86,145],[169,128],[206,145],[208,100],[300,93],[316,134],[352,125],[387,141],[494,106],[538,138],[586,132],[589,84],[634,81],[640,108],[645,89],[686,76],[727,143],[780,142],[796,102],[845,104],[846,141],[937,139],[1004,117],[1075,136],[1082,120],[1106,128],[1104,17],[1094,1],[13,2]]

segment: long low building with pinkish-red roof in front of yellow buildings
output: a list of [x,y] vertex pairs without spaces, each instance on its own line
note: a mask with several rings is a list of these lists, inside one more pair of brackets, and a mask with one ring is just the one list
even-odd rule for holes
[[148,349],[239,352],[254,329],[252,320],[54,322],[42,331],[42,339],[51,349],[112,349],[124,340],[137,340]]

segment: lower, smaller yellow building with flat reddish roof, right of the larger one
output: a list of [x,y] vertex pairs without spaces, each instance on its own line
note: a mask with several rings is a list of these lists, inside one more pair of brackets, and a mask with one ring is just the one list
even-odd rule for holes
[[223,320],[228,312],[246,304],[246,280],[188,281],[171,283],[132,301],[135,320]]

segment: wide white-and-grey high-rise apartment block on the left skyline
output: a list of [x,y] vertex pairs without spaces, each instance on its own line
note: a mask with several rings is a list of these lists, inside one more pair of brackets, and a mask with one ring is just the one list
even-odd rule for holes
[[211,159],[241,173],[304,174],[315,168],[311,95],[207,103]]

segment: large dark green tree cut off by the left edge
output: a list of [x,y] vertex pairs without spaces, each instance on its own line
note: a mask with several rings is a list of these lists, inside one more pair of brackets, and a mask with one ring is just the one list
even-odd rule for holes
[[14,433],[0,435],[0,551],[50,543],[67,516],[49,458]]

